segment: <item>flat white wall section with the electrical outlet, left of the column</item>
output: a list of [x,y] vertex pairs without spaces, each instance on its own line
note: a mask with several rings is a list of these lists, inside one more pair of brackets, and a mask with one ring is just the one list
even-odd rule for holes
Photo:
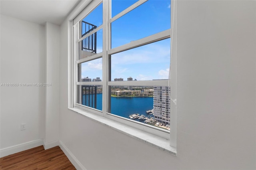
[[[44,83],[44,26],[1,15],[0,83]],[[0,148],[43,138],[44,87],[0,87]],[[26,123],[26,130],[20,124]]]

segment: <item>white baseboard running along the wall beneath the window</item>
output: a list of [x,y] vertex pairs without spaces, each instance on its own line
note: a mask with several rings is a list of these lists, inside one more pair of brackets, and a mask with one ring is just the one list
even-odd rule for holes
[[86,170],[86,168],[84,168],[84,166],[76,159],[76,157],[72,154],[72,152],[70,152],[70,150],[60,140],[59,140],[59,146],[76,169]]

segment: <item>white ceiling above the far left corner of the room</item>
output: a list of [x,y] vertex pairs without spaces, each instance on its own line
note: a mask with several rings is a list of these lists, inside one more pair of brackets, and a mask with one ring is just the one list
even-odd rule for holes
[[0,14],[44,25],[60,25],[81,0],[0,0]]

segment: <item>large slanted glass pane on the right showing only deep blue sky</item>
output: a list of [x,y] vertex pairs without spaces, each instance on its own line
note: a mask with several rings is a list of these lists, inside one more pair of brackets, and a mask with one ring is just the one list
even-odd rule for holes
[[170,3],[170,0],[148,0],[112,22],[112,48],[170,29]]

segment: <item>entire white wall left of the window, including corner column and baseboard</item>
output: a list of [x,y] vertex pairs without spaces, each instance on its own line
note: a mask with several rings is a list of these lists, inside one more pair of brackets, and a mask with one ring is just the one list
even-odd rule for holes
[[50,83],[1,87],[1,156],[58,145],[59,61],[60,26],[1,15],[1,83]]

